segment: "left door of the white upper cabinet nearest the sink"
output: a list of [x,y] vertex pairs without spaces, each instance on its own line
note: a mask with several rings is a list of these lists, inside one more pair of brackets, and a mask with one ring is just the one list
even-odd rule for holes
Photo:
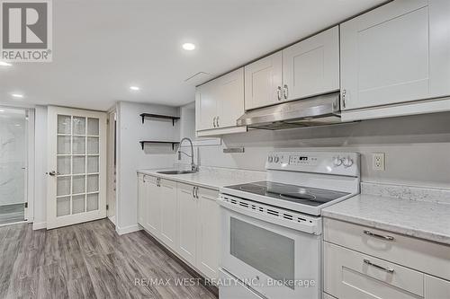
[[198,131],[214,128],[218,97],[215,80],[197,87],[195,92],[195,119]]

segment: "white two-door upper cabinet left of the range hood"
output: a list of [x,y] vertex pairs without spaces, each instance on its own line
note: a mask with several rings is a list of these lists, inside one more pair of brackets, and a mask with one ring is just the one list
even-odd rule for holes
[[[214,135],[213,131],[232,132],[236,120],[244,114],[244,68],[197,87],[195,120],[199,136]],[[211,132],[212,130],[212,132]],[[202,131],[207,131],[202,132]]]

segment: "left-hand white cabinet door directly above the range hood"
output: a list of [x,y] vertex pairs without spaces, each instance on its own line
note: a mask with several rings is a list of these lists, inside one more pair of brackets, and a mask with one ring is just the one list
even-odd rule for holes
[[245,66],[245,109],[268,106],[282,100],[282,52]]

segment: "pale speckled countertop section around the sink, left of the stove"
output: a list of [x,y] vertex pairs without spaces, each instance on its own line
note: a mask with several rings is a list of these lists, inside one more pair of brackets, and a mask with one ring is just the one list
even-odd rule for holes
[[139,173],[148,174],[164,178],[167,180],[176,180],[187,184],[219,190],[222,187],[237,185],[241,183],[266,180],[266,171],[245,171],[218,167],[200,167],[200,170],[194,173],[185,174],[161,174],[157,171],[168,171],[173,169],[143,169]]

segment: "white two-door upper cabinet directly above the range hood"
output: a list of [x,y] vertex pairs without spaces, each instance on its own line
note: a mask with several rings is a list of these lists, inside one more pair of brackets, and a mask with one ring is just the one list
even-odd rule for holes
[[338,26],[245,66],[251,110],[339,90]]

